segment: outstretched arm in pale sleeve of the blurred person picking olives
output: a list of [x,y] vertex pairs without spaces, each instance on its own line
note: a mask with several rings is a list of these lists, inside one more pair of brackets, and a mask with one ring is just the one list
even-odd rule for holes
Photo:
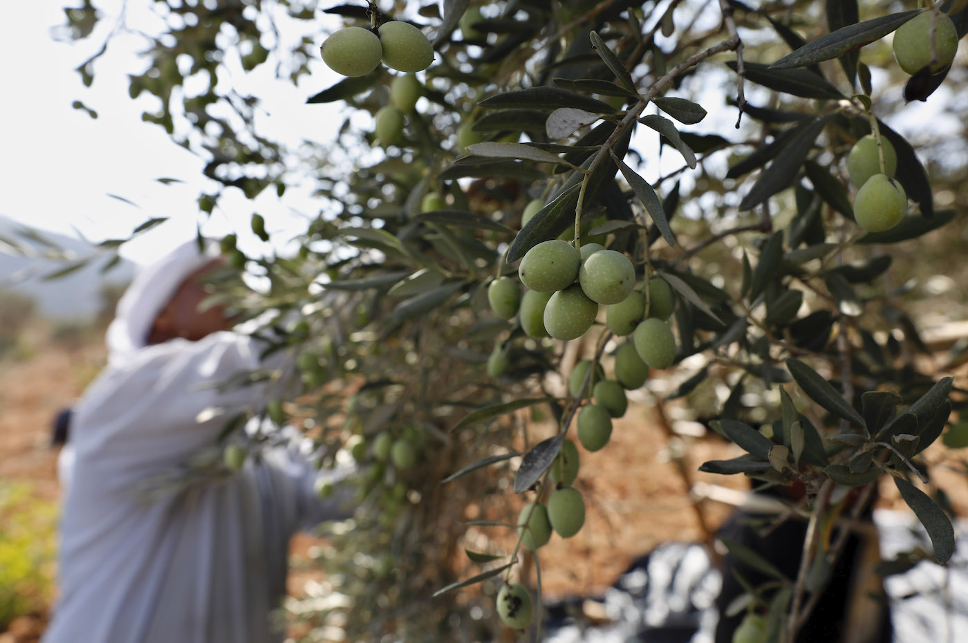
[[111,467],[118,484],[126,484],[214,446],[227,420],[257,413],[278,385],[271,379],[229,383],[260,369],[286,368],[286,353],[266,363],[264,349],[253,337],[225,331],[148,347],[123,367],[108,368],[76,406],[78,458]]

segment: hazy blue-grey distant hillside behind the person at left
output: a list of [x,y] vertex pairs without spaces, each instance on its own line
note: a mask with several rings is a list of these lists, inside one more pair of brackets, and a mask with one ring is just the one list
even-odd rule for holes
[[[134,264],[120,260],[105,270],[110,255],[74,237],[40,231],[42,240],[29,238],[30,230],[0,216],[0,291],[10,290],[34,299],[40,314],[54,320],[87,320],[101,310],[105,285],[127,284]],[[47,242],[46,245],[44,241]],[[13,254],[8,243],[29,249],[31,257]],[[57,250],[59,249],[59,250]],[[49,256],[63,251],[69,260]],[[94,257],[83,267],[58,279],[49,276],[80,260]]]

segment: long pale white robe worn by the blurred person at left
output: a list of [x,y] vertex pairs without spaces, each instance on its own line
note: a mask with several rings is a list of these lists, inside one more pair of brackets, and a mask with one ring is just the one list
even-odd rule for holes
[[[143,347],[85,391],[62,463],[60,595],[44,643],[283,639],[271,612],[286,590],[289,536],[348,517],[347,495],[318,500],[318,472],[292,446],[235,474],[218,473],[216,447],[207,474],[172,475],[204,462],[234,411],[264,401],[265,384],[211,385],[256,369],[262,346],[222,331]],[[211,408],[225,413],[198,422]]]

